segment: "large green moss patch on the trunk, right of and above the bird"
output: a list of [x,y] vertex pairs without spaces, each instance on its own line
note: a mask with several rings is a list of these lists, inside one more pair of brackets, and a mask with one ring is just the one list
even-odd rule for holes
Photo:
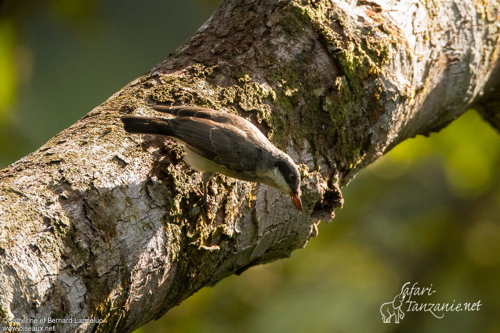
[[[279,87],[275,104],[282,112],[273,112],[271,117],[273,133],[280,133],[273,139],[285,145],[291,137],[300,145],[304,138],[309,138],[314,155],[333,155],[339,169],[353,169],[369,145],[365,138],[359,137],[359,124],[365,118],[373,123],[383,110],[380,95],[375,92],[378,83],[372,78],[384,72],[391,58],[391,44],[398,35],[377,12],[372,18],[379,22],[374,27],[378,31],[358,34],[359,23],[330,1],[297,0],[284,9],[279,24],[291,35],[304,27],[312,28],[335,60],[339,75],[331,87],[324,87],[320,83],[324,73],[317,72],[306,55],[300,54],[299,59],[287,63],[275,63],[271,85]],[[286,119],[297,108],[301,126],[293,126],[296,119]],[[282,128],[277,130],[277,127]],[[293,130],[281,130],[286,127]]]

